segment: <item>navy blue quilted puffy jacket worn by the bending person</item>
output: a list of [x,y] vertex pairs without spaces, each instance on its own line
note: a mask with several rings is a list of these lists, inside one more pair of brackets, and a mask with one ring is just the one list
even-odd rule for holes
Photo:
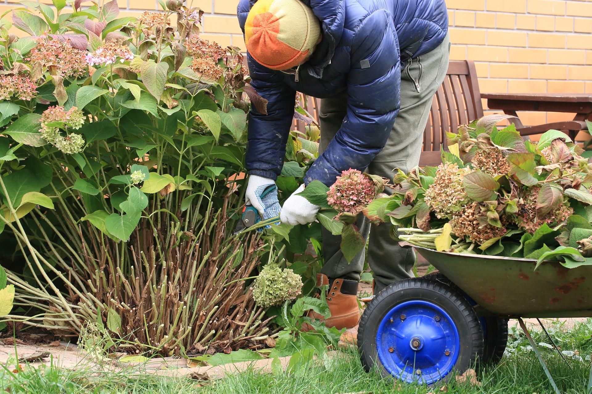
[[[239,2],[243,32],[255,1]],[[305,177],[307,184],[331,185],[343,170],[366,168],[384,148],[400,108],[403,64],[442,43],[448,13],[444,0],[303,1],[320,19],[323,40],[298,78],[247,56],[252,85],[269,103],[267,115],[250,112],[246,167],[274,180],[281,173],[297,91],[326,98],[347,90],[342,126]]]

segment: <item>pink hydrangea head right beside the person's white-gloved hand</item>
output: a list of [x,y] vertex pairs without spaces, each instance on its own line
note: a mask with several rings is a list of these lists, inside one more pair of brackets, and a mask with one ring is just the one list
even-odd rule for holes
[[327,202],[338,212],[356,214],[376,197],[376,185],[362,172],[343,171],[327,191]]

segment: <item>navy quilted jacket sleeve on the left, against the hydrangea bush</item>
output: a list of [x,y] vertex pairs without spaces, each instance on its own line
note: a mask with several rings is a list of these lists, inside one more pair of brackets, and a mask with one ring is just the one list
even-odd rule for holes
[[[249,1],[240,1],[237,11],[240,27],[244,32]],[[251,85],[269,103],[267,115],[257,112],[254,108],[249,113],[245,164],[249,174],[275,180],[284,165],[286,143],[294,116],[296,91],[283,81],[281,74],[261,66],[249,54],[247,62]]]

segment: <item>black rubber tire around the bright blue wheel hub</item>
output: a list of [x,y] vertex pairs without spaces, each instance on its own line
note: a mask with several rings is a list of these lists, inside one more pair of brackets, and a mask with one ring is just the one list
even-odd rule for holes
[[[454,366],[456,373],[462,374],[474,368],[483,353],[483,332],[475,310],[450,286],[429,279],[411,278],[387,286],[366,307],[358,328],[358,349],[364,369],[370,371],[376,367],[382,377],[395,379],[378,358],[377,331],[382,319],[395,305],[414,299],[432,302],[443,308],[456,325],[461,341]],[[439,382],[447,382],[453,375],[448,373]]]

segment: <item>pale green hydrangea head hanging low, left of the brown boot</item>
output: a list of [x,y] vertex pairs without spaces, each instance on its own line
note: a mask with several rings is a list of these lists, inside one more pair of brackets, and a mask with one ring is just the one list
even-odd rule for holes
[[279,305],[298,297],[302,286],[301,276],[291,269],[268,264],[253,283],[253,299],[263,308]]

